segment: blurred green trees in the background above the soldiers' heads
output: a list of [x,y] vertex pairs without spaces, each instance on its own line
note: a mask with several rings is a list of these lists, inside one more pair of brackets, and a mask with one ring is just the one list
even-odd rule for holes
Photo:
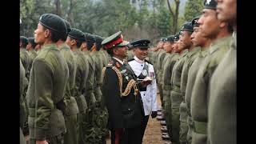
[[202,0],[20,0],[20,34],[33,37],[40,15],[51,13],[83,32],[107,37],[122,30],[129,41],[148,38],[155,44],[201,11]]

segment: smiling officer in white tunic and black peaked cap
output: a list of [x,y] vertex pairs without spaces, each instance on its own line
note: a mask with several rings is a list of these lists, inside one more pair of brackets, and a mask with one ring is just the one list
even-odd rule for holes
[[135,56],[128,61],[138,79],[151,78],[150,80],[152,81],[150,85],[140,89],[145,113],[145,117],[143,117],[142,121],[142,138],[146,130],[149,115],[151,114],[152,118],[157,116],[157,84],[155,80],[154,67],[152,63],[145,59],[149,43],[149,40],[144,39],[131,42],[130,45],[133,48]]

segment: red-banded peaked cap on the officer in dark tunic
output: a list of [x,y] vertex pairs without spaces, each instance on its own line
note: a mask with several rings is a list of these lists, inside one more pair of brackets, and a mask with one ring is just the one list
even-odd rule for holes
[[127,46],[128,44],[129,42],[123,40],[122,31],[118,31],[102,41],[102,46],[106,49],[111,49],[114,46]]

